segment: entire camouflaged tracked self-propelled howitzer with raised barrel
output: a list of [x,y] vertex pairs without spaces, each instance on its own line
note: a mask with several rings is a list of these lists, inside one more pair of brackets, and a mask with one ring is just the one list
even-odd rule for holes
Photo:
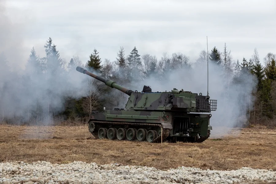
[[76,70],[129,95],[125,109],[90,114],[89,131],[95,138],[203,142],[210,136],[210,112],[217,109],[217,100],[209,95],[175,88],[152,92],[150,86],[132,91],[81,67]]

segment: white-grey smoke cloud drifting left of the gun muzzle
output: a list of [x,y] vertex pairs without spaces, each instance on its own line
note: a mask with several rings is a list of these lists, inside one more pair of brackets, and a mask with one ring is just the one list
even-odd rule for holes
[[[83,96],[85,78],[76,70],[66,72],[57,67],[48,68],[47,74],[33,72],[41,70],[26,65],[28,58],[22,53],[30,53],[32,48],[23,46],[24,28],[9,19],[3,0],[0,0],[0,25],[0,121],[8,118],[21,124],[36,117],[33,122],[48,124],[52,115],[64,111],[67,97]],[[55,70],[57,73],[53,73]]]

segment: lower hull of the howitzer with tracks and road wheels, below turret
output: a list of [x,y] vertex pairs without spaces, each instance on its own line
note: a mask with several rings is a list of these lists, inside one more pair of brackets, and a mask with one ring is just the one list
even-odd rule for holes
[[99,139],[203,142],[212,129],[209,119],[209,114],[110,110],[91,114],[89,131]]

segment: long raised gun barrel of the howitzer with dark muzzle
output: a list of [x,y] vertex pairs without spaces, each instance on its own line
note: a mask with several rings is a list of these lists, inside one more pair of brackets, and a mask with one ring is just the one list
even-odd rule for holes
[[132,90],[129,90],[129,89],[125,88],[125,87],[122,87],[122,86],[116,84],[112,80],[104,79],[104,78],[102,78],[102,77],[100,77],[98,75],[92,74],[91,72],[85,70],[82,67],[77,67],[76,70],[79,71],[79,72],[81,72],[81,73],[83,73],[83,74],[89,75],[89,76],[91,76],[91,77],[93,77],[93,78],[95,78],[95,79],[97,79],[99,81],[102,81],[102,82],[105,83],[106,86],[109,86],[109,87],[115,88],[117,90],[120,90],[120,91],[124,92],[125,94],[127,94],[129,96],[133,92]]

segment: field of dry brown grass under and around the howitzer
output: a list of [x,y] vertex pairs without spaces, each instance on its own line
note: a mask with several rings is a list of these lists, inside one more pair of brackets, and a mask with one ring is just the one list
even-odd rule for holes
[[212,137],[203,143],[161,145],[94,140],[85,126],[0,125],[0,162],[44,160],[71,163],[78,160],[163,170],[178,166],[216,170],[241,167],[276,170],[276,130],[261,127],[223,130],[213,128]]

